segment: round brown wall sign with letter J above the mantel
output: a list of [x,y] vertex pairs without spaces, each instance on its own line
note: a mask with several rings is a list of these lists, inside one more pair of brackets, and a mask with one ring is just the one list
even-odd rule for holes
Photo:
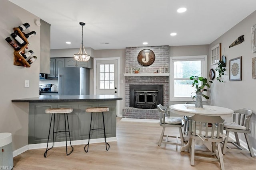
[[155,61],[155,54],[150,49],[143,49],[138,53],[138,63],[140,63],[142,66],[150,66]]

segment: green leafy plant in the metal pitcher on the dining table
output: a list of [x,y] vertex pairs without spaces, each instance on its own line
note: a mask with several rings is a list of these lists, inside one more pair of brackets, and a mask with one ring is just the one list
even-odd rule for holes
[[[204,77],[191,76],[189,79],[194,80],[192,83],[192,87],[196,89],[196,93],[207,92],[207,88],[205,88],[205,86],[210,88],[209,83],[212,83],[212,81],[208,81],[207,78],[204,78]],[[201,82],[200,84],[198,80]],[[206,99],[209,99],[209,97],[204,94],[202,94],[202,96]]]

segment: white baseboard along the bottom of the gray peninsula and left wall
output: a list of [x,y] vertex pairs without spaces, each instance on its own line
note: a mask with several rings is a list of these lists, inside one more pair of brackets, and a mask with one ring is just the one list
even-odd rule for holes
[[[117,137],[108,137],[106,138],[107,142],[114,142],[117,141]],[[90,143],[102,143],[105,142],[104,138],[99,138],[99,139],[90,139]],[[85,145],[88,143],[88,139],[85,140],[77,140],[77,141],[71,141],[72,145]],[[52,143],[50,143],[50,146]],[[27,150],[31,150],[31,149],[44,149],[46,148],[47,143],[38,143],[38,144],[29,144],[26,145],[20,149],[14,150],[12,152],[12,156],[18,156],[19,154],[22,154],[23,152],[26,152]],[[62,142],[54,142],[54,147],[65,147],[66,146],[66,141],[62,141]]]

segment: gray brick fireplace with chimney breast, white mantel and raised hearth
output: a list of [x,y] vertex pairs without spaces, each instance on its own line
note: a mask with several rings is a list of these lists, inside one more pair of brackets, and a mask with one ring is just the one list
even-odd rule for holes
[[[137,55],[143,49],[150,49],[155,53],[156,59],[150,66],[142,66],[137,61]],[[158,104],[159,100],[160,104],[168,106],[169,75],[168,73],[159,74],[160,72],[164,71],[163,68],[166,67],[166,65],[169,65],[169,46],[126,48],[126,70],[131,70],[132,68],[140,68],[140,72],[138,74],[125,74],[125,108],[123,109],[122,113],[123,118],[159,119],[157,108],[153,108],[153,106],[155,104],[154,102],[157,102]],[[131,105],[134,103],[134,100],[136,100],[136,97],[134,94],[131,94],[130,87],[134,87],[136,85],[141,87],[136,88],[136,91],[139,93],[139,95],[136,95],[140,97],[140,102],[138,105],[140,108],[136,108],[134,104]],[[143,86],[146,88],[143,89]],[[148,88],[149,86],[150,88]],[[159,90],[151,88],[151,86],[160,86],[162,88],[162,92],[159,93]],[[133,89],[132,93],[134,93],[134,90],[135,89]],[[146,91],[146,94],[144,93],[145,101],[143,101],[143,94],[141,92],[143,90]],[[148,103],[145,104],[145,102]]]

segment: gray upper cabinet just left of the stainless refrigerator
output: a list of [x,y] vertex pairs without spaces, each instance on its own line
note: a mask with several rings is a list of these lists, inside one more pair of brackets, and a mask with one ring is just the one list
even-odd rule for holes
[[51,58],[50,59],[50,74],[47,78],[58,78],[58,68],[65,66],[64,58]]

